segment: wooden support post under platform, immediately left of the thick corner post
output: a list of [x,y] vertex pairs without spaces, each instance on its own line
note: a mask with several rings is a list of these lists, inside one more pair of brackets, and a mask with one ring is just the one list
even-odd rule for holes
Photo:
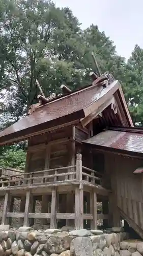
[[56,227],[56,189],[52,190],[51,194],[51,219],[50,219],[50,228]]

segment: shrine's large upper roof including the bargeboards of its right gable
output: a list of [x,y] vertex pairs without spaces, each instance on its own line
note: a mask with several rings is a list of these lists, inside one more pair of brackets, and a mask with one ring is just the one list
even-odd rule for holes
[[117,97],[120,100],[119,108],[122,109],[126,116],[127,125],[132,126],[121,84],[116,80],[108,84],[105,88],[93,84],[76,92],[71,92],[66,96],[53,99],[44,105],[40,105],[31,115],[21,118],[2,131],[0,133],[0,145],[27,139],[37,133],[44,133],[47,129],[57,125],[81,120],[95,112],[95,110],[97,112],[99,110],[102,111],[102,108],[108,105],[109,99],[117,91]]

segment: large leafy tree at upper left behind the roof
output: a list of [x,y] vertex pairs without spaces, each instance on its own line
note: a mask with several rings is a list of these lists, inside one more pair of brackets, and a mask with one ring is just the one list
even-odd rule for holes
[[63,81],[81,82],[84,43],[72,12],[50,1],[2,0],[0,21],[0,89],[8,90],[1,112],[17,121],[37,101],[36,79],[46,96]]

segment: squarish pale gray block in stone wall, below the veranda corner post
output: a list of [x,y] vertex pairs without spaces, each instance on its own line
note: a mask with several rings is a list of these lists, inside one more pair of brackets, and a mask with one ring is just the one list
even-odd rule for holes
[[92,241],[89,237],[78,237],[72,240],[71,256],[93,256]]

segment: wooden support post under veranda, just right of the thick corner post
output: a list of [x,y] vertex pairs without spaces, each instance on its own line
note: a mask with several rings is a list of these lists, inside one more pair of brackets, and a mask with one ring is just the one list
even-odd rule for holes
[[91,229],[97,229],[97,194],[94,190],[91,191],[90,197],[91,214],[93,220],[91,220]]

